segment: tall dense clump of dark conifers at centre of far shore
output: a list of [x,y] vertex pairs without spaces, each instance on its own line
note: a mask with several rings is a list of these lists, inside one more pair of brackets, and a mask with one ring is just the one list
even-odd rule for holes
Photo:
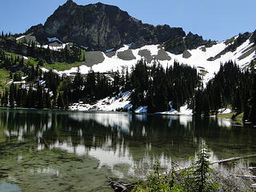
[[190,66],[174,62],[165,70],[156,62],[146,66],[140,61],[131,73],[133,107],[148,106],[148,112],[165,111],[170,110],[168,102],[173,101],[174,109],[178,109],[190,102],[198,81],[197,70]]

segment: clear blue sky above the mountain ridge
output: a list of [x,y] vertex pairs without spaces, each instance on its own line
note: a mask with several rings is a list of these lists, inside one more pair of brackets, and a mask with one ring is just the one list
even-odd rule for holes
[[[66,0],[2,0],[0,31],[23,33],[46,18]],[[74,0],[78,5],[98,0]],[[224,40],[256,30],[255,0],[101,0],[153,25],[182,27],[205,39]]]

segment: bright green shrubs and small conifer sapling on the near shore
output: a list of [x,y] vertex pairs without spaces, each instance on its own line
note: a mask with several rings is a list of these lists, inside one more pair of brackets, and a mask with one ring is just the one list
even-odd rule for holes
[[175,170],[174,167],[169,174],[163,173],[160,163],[156,162],[154,171],[145,181],[134,187],[136,191],[162,191],[162,192],[217,192],[220,185],[214,182],[212,174],[214,170],[210,168],[210,150],[206,146],[200,146],[197,154],[198,160],[193,166],[187,169]]

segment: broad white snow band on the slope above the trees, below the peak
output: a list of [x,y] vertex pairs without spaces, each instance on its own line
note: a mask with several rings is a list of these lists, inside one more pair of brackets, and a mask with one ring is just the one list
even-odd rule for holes
[[[239,66],[244,66],[248,64],[253,58],[255,58],[255,52],[250,54],[248,57],[243,58],[242,60],[238,60],[238,58],[243,54],[242,51],[246,50],[248,47],[252,46],[253,44],[250,43],[250,40],[247,40],[244,42],[241,46],[238,47],[237,50],[234,52],[228,52],[224,55],[222,55],[220,58],[217,58],[214,61],[207,61],[208,58],[214,57],[217,54],[219,54],[222,50],[224,50],[227,46],[225,42],[218,42],[218,44],[206,47],[206,51],[202,50],[202,46],[198,47],[195,50],[189,50],[191,57],[190,58],[183,58],[182,54],[170,54],[167,52],[167,54],[170,56],[170,61],[158,61],[162,64],[163,67],[171,66],[174,64],[174,61],[178,61],[180,63],[187,64],[189,66],[197,67],[198,72],[200,70],[206,70],[208,73],[204,76],[203,82],[206,84],[210,80],[210,78],[214,77],[214,73],[217,73],[220,64],[228,62],[230,60],[237,62]],[[123,67],[128,66],[129,69],[131,69],[132,66],[135,66],[135,64],[142,58],[140,55],[138,55],[139,50],[150,50],[151,55],[154,57],[158,54],[158,50],[160,49],[158,47],[159,45],[149,45],[149,46],[142,46],[141,48],[138,48],[136,50],[132,50],[132,53],[134,54],[135,59],[130,61],[125,61],[120,58],[118,58],[117,54],[114,55],[114,57],[109,58],[106,56],[105,53],[102,53],[105,60],[102,63],[99,63],[97,65],[92,66],[92,70],[95,72],[108,72],[111,70],[119,70],[121,71]],[[124,50],[130,49],[129,46],[125,45],[117,52],[122,52]],[[154,61],[152,61],[149,64],[152,64]],[[87,74],[90,70],[90,67],[88,66],[80,66],[80,72],[82,74]],[[74,67],[70,70],[61,71],[59,74],[66,73],[69,75],[70,73],[77,72],[77,67]]]

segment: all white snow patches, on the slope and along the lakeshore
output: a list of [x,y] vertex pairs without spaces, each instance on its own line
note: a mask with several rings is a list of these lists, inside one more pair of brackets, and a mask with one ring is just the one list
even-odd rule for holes
[[[21,39],[24,36],[17,38]],[[238,36],[234,37],[238,38]],[[51,50],[60,50],[64,49],[69,43],[62,43],[58,38],[48,38],[49,42],[60,42],[61,46],[49,46]],[[198,74],[202,75],[202,83],[206,86],[206,82],[209,82],[211,78],[214,78],[214,74],[218,72],[222,63],[233,61],[238,64],[241,68],[246,67],[249,63],[256,58],[255,50],[256,46],[250,40],[243,42],[241,46],[238,46],[237,50],[229,51],[224,54],[222,53],[228,46],[232,43],[227,44],[226,41],[218,42],[216,45],[211,47],[200,46],[194,50],[186,50],[186,55],[184,54],[171,54],[164,50],[160,45],[146,45],[138,49],[130,49],[130,46],[133,43],[122,46],[118,50],[110,49],[105,52],[100,52],[102,54],[103,61],[98,64],[92,64],[92,66],[82,65],[79,66],[79,72],[81,74],[88,74],[90,70],[94,72],[106,73],[110,71],[122,71],[126,67],[130,71],[136,63],[142,58],[146,60],[149,66],[153,65],[154,62],[159,62],[164,68],[168,66],[173,66],[174,61],[179,63],[187,64],[188,66],[193,66],[198,70]],[[48,48],[48,45],[42,46]],[[82,46],[85,49],[88,47]],[[91,52],[91,53],[94,53]],[[94,55],[94,54],[92,54]],[[218,57],[217,57],[218,55]],[[95,57],[92,56],[92,57]],[[28,59],[24,57],[24,59]],[[93,59],[94,60],[94,59]],[[43,71],[48,71],[46,68],[42,67]],[[62,76],[74,75],[78,72],[78,67],[73,67],[70,70],[57,71],[54,70],[54,73]],[[15,82],[14,82],[15,83]],[[23,83],[23,82],[16,82]],[[85,104],[82,102],[74,103],[70,106],[70,110],[99,110],[99,111],[118,111],[118,110],[131,110],[132,105],[130,103],[130,92],[126,91],[125,93],[118,94],[114,97],[104,98],[99,100],[95,104]],[[188,104],[184,103],[180,109],[173,109],[170,102],[169,111],[158,112],[158,114],[173,114],[173,115],[192,115],[193,111],[188,108]],[[139,106],[138,109],[134,110],[135,113],[144,114],[147,113],[147,106]],[[231,110],[220,109],[219,114],[228,114],[231,113]]]

